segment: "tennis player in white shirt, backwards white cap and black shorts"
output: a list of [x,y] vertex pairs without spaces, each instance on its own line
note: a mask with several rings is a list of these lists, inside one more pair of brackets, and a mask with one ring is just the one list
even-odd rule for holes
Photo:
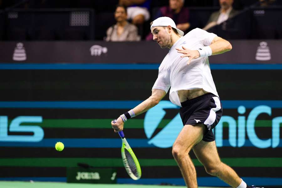
[[208,174],[232,187],[255,188],[254,185],[248,186],[232,168],[221,162],[212,132],[222,116],[222,104],[212,79],[208,56],[231,50],[231,44],[199,28],[183,36],[183,31],[177,29],[168,17],[154,20],[151,32],[160,47],[170,51],[159,66],[152,95],[122,114],[116,123],[112,123],[112,128],[115,132],[123,130],[125,121],[157,105],[170,88],[170,101],[180,106],[184,125],[173,144],[172,154],[186,186],[198,187],[196,170],[188,154],[193,149]]

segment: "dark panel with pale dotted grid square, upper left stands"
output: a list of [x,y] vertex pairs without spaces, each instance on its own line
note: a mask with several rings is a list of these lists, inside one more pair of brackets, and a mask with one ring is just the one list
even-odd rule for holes
[[15,9],[7,14],[8,40],[93,40],[93,9]]

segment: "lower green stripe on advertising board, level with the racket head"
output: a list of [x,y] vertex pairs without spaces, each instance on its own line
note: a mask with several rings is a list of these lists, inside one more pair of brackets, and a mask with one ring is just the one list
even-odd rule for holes
[[[141,166],[177,166],[174,159],[138,159]],[[282,167],[281,158],[222,158],[232,167]],[[0,159],[0,166],[76,167],[86,163],[95,167],[122,167],[121,158],[9,158]],[[201,166],[193,159],[195,166]]]

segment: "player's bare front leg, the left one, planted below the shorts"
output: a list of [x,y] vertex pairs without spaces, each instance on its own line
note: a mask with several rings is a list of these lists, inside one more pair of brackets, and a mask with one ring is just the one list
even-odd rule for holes
[[195,166],[189,157],[189,151],[203,138],[204,125],[185,125],[172,147],[172,154],[180,167],[186,186],[197,188]]

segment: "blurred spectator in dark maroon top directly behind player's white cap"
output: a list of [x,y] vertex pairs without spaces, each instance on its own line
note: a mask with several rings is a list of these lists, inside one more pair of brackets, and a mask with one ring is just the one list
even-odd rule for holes
[[[189,9],[183,7],[184,0],[169,0],[170,5],[164,6],[159,9],[159,12],[154,16],[154,19],[159,17],[170,17],[176,24],[176,28],[187,32],[190,28],[189,20]],[[146,36],[146,40],[153,40],[152,33]]]

